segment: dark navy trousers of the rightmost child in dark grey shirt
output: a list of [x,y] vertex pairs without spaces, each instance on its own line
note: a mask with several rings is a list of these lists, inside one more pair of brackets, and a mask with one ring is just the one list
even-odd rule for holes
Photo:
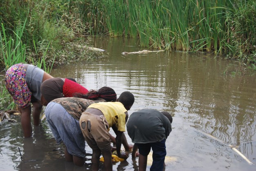
[[152,148],[153,151],[153,163],[150,167],[150,171],[163,171],[165,156],[166,156],[166,147],[165,147],[165,139],[160,142],[151,142],[147,144],[137,144],[139,153],[143,156],[149,155],[149,152]]

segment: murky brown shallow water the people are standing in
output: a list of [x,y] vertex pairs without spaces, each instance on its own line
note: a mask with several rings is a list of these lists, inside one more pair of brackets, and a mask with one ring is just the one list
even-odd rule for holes
[[[109,86],[118,96],[130,91],[135,103],[129,114],[142,108],[171,112],[174,121],[166,141],[167,156],[176,160],[168,163],[166,171],[256,169],[255,75],[239,75],[232,61],[206,54],[121,55],[143,50],[135,39],[96,38],[92,44],[107,50],[109,57],[62,66],[51,75],[76,78],[87,89]],[[33,138],[24,139],[19,116],[13,118],[18,123],[0,123],[0,170],[91,169],[92,151],[88,146],[85,167],[74,167],[65,162],[62,146],[56,145],[46,121],[34,128]],[[229,145],[236,145],[254,164]],[[115,163],[113,169],[138,170],[138,158],[129,156],[127,161]]]

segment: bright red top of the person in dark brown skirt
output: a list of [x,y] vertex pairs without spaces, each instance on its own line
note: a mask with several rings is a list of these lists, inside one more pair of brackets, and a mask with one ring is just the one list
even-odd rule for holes
[[73,97],[74,93],[82,93],[87,94],[89,91],[84,88],[82,85],[71,81],[69,79],[65,79],[64,85],[63,85],[63,95],[65,97]]

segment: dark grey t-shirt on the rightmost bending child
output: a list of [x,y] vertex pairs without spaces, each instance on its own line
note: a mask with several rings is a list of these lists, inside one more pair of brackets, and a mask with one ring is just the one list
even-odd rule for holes
[[171,132],[169,119],[153,109],[142,109],[132,113],[126,127],[133,143],[159,142],[167,139]]

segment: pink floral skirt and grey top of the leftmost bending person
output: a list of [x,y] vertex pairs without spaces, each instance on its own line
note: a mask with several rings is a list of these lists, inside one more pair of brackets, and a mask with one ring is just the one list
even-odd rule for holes
[[37,66],[21,63],[14,64],[7,70],[4,81],[14,103],[25,108],[31,102],[40,101],[41,83],[49,78],[53,77]]

